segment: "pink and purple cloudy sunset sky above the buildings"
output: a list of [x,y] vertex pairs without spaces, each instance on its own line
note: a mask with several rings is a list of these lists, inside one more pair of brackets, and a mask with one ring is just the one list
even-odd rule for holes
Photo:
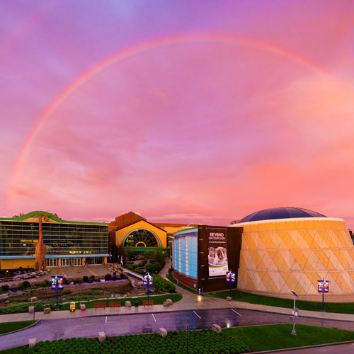
[[0,215],[354,227],[353,1],[0,3]]

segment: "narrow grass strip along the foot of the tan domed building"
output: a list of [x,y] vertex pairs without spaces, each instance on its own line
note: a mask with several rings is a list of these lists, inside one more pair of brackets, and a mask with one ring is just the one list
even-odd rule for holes
[[[241,297],[242,294],[242,297]],[[230,295],[229,291],[224,292],[215,292],[212,294],[205,294],[209,297],[219,297],[220,299],[226,299]],[[270,296],[261,296],[248,294],[245,292],[239,292],[238,290],[232,290],[232,299],[235,299],[237,296],[237,301],[250,302],[251,304],[262,304],[275,307],[286,307],[292,309],[294,306],[293,299],[280,299],[278,297]],[[335,303],[335,302],[326,302],[326,295],[324,295],[324,309],[326,312],[335,312],[338,314],[354,314],[354,303]],[[298,309],[308,310],[308,311],[321,311],[322,302],[312,302],[312,301],[302,301],[296,300],[296,307]]]

